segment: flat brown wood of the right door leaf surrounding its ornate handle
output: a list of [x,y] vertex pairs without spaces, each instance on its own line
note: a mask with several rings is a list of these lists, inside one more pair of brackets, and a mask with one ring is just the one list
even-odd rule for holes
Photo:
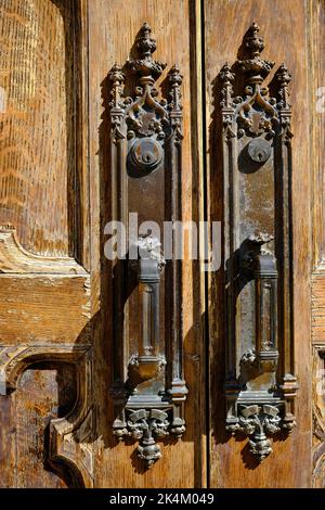
[[[294,105],[294,239],[295,239],[295,343],[298,429],[286,441],[274,442],[273,454],[256,466],[247,455],[247,439],[231,438],[224,432],[224,336],[220,289],[222,275],[209,276],[210,333],[210,483],[212,487],[306,487],[311,485],[311,324],[310,324],[310,137],[313,113],[309,100],[308,2],[291,0],[205,1],[205,65],[208,146],[208,211],[211,220],[222,219],[218,205],[222,177],[213,131],[218,98],[213,82],[221,67],[236,61],[243,37],[256,22],[265,41],[263,58],[275,61],[274,71],[285,62],[292,73]],[[216,29],[218,27],[218,29]],[[292,28],[295,27],[295,28]],[[288,43],[289,41],[289,43]],[[270,80],[272,75],[270,76]],[[257,190],[258,192],[258,190]],[[301,197],[303,196],[303,200]],[[297,462],[299,458],[299,462]],[[303,469],[301,469],[303,466]]]

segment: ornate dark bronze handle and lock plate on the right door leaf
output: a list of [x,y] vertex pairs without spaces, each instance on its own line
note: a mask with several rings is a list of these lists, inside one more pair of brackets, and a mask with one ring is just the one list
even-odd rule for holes
[[[292,331],[291,137],[288,85],[282,64],[277,99],[264,79],[274,62],[253,23],[243,60],[225,64],[222,84],[226,302],[226,429],[250,437],[259,461],[270,436],[295,424]],[[244,80],[243,97],[233,85]],[[239,84],[239,82],[238,82]]]

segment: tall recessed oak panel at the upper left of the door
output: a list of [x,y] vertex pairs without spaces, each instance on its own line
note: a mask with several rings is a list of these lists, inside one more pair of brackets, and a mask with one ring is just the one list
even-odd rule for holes
[[74,1],[0,2],[0,222],[34,253],[72,253]]

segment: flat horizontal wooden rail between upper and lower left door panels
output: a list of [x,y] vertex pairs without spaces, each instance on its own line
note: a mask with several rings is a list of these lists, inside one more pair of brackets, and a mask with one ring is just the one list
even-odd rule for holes
[[89,342],[88,277],[0,277],[0,343]]

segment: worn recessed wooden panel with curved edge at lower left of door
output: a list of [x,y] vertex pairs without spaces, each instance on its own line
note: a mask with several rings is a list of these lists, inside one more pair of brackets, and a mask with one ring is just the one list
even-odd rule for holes
[[24,372],[13,397],[1,400],[12,407],[12,412],[5,412],[6,421],[1,420],[6,435],[1,445],[8,445],[9,454],[1,458],[1,487],[62,488],[72,484],[69,473],[64,481],[47,463],[47,429],[51,419],[72,409],[75,399],[75,373],[68,365],[36,365]]

